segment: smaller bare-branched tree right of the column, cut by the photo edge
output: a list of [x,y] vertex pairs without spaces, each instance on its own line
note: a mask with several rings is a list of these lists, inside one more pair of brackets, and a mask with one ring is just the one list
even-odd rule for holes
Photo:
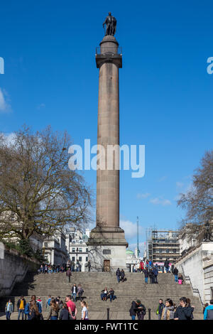
[[[178,205],[186,210],[182,224],[194,224],[200,227],[205,222],[213,221],[213,151],[207,151],[201,161],[200,168],[192,177],[192,188],[180,194]],[[197,227],[191,227],[192,233]]]

